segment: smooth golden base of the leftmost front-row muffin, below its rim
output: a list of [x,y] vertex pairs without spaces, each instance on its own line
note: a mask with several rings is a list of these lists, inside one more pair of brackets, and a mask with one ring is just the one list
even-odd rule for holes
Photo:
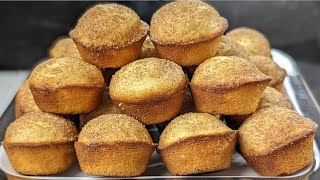
[[14,170],[25,175],[51,175],[68,170],[73,163],[73,142],[51,144],[2,143]]

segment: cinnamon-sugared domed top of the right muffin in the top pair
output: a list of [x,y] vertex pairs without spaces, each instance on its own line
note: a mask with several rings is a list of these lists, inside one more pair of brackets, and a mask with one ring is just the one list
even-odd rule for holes
[[150,36],[163,44],[187,43],[217,37],[225,29],[212,6],[202,1],[175,1],[154,13]]

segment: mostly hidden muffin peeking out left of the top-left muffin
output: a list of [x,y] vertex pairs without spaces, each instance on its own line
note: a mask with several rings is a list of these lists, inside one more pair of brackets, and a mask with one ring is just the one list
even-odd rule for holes
[[74,57],[82,59],[77,46],[69,37],[60,37],[55,40],[53,45],[49,49],[49,57]]

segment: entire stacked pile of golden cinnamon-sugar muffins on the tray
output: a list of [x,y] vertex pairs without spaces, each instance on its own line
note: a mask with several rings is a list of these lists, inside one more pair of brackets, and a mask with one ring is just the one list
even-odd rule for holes
[[260,175],[304,168],[317,124],[283,95],[266,37],[227,26],[198,0],[164,5],[150,28],[122,5],[89,8],[16,96],[2,143],[13,168],[57,174],[77,157],[88,175],[139,176],[156,149],[172,175],[197,174],[229,168],[236,143]]

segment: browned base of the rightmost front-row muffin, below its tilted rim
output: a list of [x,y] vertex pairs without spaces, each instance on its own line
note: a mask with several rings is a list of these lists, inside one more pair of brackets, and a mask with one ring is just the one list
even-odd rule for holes
[[313,139],[314,132],[265,154],[241,152],[241,155],[259,175],[292,174],[313,161]]

